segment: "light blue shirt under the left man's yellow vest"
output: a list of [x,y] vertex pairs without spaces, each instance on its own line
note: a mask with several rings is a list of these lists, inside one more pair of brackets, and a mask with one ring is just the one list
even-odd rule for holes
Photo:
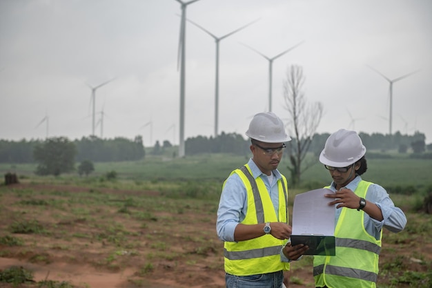
[[[264,184],[266,184],[266,189],[273,202],[273,207],[275,207],[275,211],[278,211],[279,191],[277,188],[277,180],[281,179],[282,175],[277,169],[273,170],[273,182],[270,183],[268,181],[268,176],[259,170],[252,158],[249,160],[248,165],[251,168],[253,177],[255,179],[261,177]],[[230,175],[225,182],[219,201],[219,209],[217,209],[216,231],[220,240],[235,242],[235,227],[244,220],[247,211],[248,202],[246,187],[239,175],[234,173]],[[276,215],[279,215],[279,213],[276,213]]]

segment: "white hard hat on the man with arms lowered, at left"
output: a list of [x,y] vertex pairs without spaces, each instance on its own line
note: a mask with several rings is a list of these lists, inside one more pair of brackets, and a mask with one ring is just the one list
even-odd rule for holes
[[284,123],[273,112],[258,113],[253,116],[246,135],[266,143],[280,143],[291,140],[291,137],[285,132]]

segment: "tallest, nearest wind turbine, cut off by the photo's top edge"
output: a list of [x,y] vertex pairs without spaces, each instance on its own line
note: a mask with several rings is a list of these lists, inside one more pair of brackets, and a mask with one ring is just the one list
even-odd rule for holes
[[189,4],[195,3],[199,0],[190,0],[183,2],[175,0],[181,4],[181,21],[180,21],[180,37],[179,37],[179,51],[177,59],[177,69],[180,66],[180,139],[179,139],[179,157],[184,157],[184,91],[185,91],[185,78],[186,78],[186,8]]

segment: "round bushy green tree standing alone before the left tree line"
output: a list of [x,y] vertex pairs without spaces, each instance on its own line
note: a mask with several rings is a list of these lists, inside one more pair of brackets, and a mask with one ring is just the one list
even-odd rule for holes
[[75,169],[75,144],[66,137],[52,137],[35,146],[33,158],[39,162],[38,175],[55,175],[67,173]]

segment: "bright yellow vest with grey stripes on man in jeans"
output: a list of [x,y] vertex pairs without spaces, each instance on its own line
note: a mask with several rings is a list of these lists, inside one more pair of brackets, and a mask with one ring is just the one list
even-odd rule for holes
[[[242,224],[265,222],[288,223],[288,184],[286,177],[277,180],[279,209],[275,211],[273,202],[261,177],[255,180],[246,164],[237,173],[247,191],[248,209]],[[278,213],[278,214],[276,214]],[[279,216],[279,220],[277,218]],[[287,240],[279,240],[270,234],[239,242],[224,243],[224,263],[226,273],[235,276],[248,276],[289,270],[289,263],[281,262],[280,251]]]

